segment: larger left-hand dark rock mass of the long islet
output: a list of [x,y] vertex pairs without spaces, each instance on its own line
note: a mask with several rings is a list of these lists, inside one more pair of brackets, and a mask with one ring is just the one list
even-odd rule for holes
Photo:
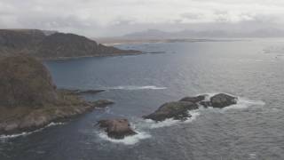
[[187,117],[191,117],[188,111],[193,109],[198,109],[198,105],[196,103],[190,101],[173,101],[163,104],[160,108],[154,111],[153,114],[143,117],[154,121],[163,121],[167,118],[185,120]]

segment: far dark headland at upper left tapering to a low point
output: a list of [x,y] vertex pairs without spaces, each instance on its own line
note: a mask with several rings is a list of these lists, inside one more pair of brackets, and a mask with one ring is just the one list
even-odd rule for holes
[[0,29],[0,56],[15,53],[35,56],[39,59],[59,59],[86,56],[109,56],[137,54],[138,51],[120,50],[97,44],[84,36],[75,34],[44,34],[41,30]]

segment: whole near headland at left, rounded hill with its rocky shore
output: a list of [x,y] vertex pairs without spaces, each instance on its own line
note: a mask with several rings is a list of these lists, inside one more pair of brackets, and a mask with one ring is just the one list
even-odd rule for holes
[[113,101],[83,100],[76,92],[57,90],[43,64],[28,56],[0,60],[0,134],[33,131],[103,108]]

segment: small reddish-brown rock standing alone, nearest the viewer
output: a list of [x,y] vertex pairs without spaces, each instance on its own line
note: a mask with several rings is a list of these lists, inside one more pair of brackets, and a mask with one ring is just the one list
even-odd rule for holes
[[127,119],[100,120],[99,127],[104,128],[107,136],[114,139],[123,139],[124,137],[137,134],[134,132]]

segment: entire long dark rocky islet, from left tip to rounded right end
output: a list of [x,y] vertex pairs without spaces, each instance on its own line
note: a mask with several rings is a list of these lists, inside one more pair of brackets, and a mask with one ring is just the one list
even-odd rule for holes
[[156,122],[164,121],[168,118],[184,121],[191,117],[189,110],[198,109],[199,106],[205,108],[225,108],[237,103],[237,98],[225,93],[219,93],[206,100],[208,95],[199,95],[195,97],[185,97],[179,101],[172,101],[163,104],[154,113],[143,116],[145,119],[152,119]]

